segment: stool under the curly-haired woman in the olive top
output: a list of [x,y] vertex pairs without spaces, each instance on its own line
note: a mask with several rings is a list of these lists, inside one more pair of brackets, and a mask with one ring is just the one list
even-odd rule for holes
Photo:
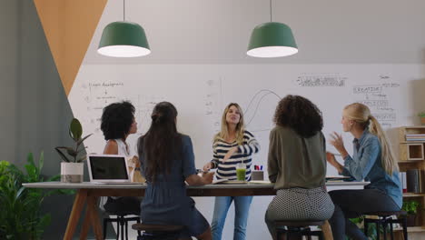
[[281,239],[282,235],[286,235],[286,240],[291,239],[292,235],[317,235],[319,239],[323,239],[321,231],[311,231],[311,225],[325,225],[325,221],[275,221],[276,239]]

